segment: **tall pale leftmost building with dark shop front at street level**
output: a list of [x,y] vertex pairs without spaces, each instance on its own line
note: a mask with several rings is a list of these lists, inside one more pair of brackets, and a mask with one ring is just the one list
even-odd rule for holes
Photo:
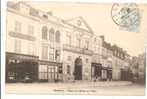
[[30,16],[24,4],[8,3],[6,20],[6,81],[21,81],[28,73],[37,80],[38,18]]

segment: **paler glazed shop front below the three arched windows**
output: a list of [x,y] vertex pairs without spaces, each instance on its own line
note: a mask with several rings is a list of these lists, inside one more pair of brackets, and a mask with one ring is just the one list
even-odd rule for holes
[[58,82],[63,81],[62,64],[49,61],[39,61],[38,81]]

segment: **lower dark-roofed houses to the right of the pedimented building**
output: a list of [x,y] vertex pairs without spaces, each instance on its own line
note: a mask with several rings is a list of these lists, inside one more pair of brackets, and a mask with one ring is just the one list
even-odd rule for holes
[[108,43],[104,36],[98,36],[97,44],[94,40],[92,56],[92,78],[99,80],[128,80],[130,56],[122,48]]

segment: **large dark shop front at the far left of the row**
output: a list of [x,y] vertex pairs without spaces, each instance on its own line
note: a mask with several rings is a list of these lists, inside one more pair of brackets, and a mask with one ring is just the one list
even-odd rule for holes
[[6,53],[6,82],[38,80],[38,57]]

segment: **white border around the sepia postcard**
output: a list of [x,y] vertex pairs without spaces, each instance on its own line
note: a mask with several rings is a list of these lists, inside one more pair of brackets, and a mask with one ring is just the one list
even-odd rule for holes
[[[1,0],[1,95],[2,99],[57,99],[57,98],[104,98],[104,99],[145,99],[146,96],[87,96],[87,95],[12,95],[5,94],[5,33],[6,33],[6,2],[14,0]],[[41,1],[41,0],[15,0],[15,1]],[[85,3],[147,3],[147,0],[44,0],[51,2],[85,2]],[[146,42],[147,43],[147,42]],[[147,51],[147,44],[145,44]],[[147,69],[146,69],[147,70]],[[147,95],[147,91],[146,91]],[[147,98],[146,98],[147,99]]]

